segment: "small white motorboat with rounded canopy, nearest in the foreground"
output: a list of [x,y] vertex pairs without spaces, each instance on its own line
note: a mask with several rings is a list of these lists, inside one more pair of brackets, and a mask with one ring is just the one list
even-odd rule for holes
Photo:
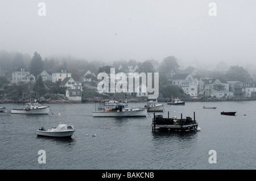
[[76,130],[71,125],[59,124],[57,128],[41,129],[36,130],[38,136],[49,136],[49,137],[71,137]]

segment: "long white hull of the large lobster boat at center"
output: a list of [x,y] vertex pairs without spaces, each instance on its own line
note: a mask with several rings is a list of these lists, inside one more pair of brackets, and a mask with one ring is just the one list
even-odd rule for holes
[[130,111],[93,111],[93,117],[146,117],[147,110],[130,110]]

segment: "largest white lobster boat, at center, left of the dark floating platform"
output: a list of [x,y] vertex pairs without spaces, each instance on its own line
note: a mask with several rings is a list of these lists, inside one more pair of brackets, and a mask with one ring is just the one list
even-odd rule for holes
[[126,103],[117,103],[93,111],[93,117],[146,117],[147,109],[142,107],[127,107]]

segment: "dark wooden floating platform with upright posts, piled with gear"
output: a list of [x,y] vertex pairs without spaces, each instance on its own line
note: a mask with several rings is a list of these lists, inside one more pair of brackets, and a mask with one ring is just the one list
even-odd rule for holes
[[156,129],[170,129],[171,131],[200,131],[201,129],[198,127],[198,123],[195,119],[195,112],[194,112],[194,119],[192,120],[191,117],[186,117],[185,119],[177,117],[164,118],[163,115],[155,115],[152,119],[152,131],[155,132]]

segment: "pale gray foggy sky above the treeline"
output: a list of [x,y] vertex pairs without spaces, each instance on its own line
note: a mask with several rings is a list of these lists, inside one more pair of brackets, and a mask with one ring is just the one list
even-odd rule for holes
[[[38,15],[39,2],[46,16]],[[217,16],[209,16],[210,2]],[[0,50],[249,64],[256,60],[255,9],[255,0],[1,0]]]

